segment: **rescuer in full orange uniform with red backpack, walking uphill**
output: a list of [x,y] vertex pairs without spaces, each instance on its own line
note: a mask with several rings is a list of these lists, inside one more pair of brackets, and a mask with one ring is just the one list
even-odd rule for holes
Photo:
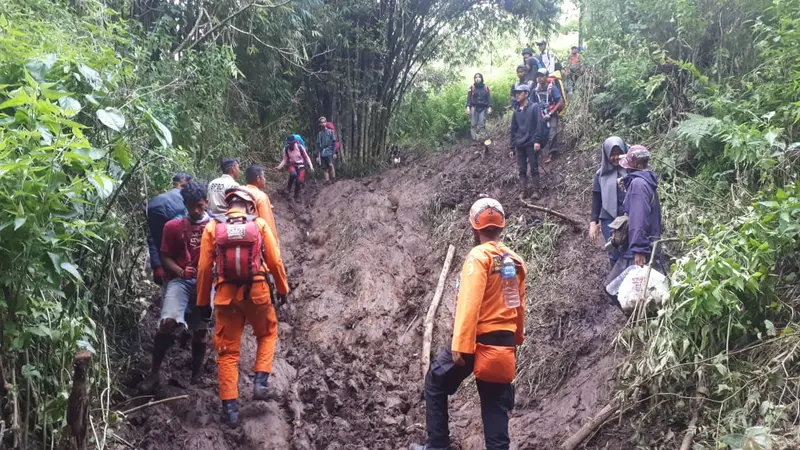
[[[278,242],[264,219],[254,217],[256,201],[244,188],[225,193],[228,210],[203,230],[197,266],[197,304],[208,311],[211,287],[216,287],[214,314],[219,396],[222,420],[239,425],[239,346],[245,321],[257,340],[253,399],[272,396],[269,374],[278,339],[278,318],[270,297],[267,275],[272,274],[282,303],[289,293]],[[242,281],[245,280],[245,281]]]

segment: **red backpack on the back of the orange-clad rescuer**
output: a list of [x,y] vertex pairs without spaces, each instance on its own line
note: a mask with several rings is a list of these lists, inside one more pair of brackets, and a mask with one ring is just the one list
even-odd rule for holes
[[223,283],[250,285],[257,275],[267,276],[262,267],[264,241],[255,218],[226,216],[216,225],[217,276],[225,279]]

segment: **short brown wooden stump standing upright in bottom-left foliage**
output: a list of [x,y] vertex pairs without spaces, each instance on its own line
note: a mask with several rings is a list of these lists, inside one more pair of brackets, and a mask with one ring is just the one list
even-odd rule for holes
[[89,367],[92,354],[80,351],[72,361],[72,392],[67,401],[66,450],[86,450],[89,429]]

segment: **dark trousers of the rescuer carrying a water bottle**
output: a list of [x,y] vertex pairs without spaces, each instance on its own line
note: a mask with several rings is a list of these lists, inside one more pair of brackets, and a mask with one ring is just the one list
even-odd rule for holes
[[[465,364],[457,366],[450,350],[442,349],[431,361],[425,376],[425,405],[428,446],[449,448],[450,426],[447,398],[456,393],[472,373],[474,355],[463,355]],[[481,419],[487,450],[508,450],[508,414],[514,409],[514,386],[475,380],[481,398]]]

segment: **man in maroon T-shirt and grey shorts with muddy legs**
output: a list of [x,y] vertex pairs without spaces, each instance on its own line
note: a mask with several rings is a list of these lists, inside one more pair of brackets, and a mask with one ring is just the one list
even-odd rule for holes
[[164,225],[161,261],[167,287],[158,330],[153,339],[150,375],[139,385],[139,391],[143,394],[152,393],[160,384],[161,363],[174,342],[173,333],[176,330],[184,328],[192,333],[192,383],[199,380],[206,353],[208,321],[195,302],[200,237],[209,222],[206,187],[190,181],[183,186],[180,195],[188,213]]

